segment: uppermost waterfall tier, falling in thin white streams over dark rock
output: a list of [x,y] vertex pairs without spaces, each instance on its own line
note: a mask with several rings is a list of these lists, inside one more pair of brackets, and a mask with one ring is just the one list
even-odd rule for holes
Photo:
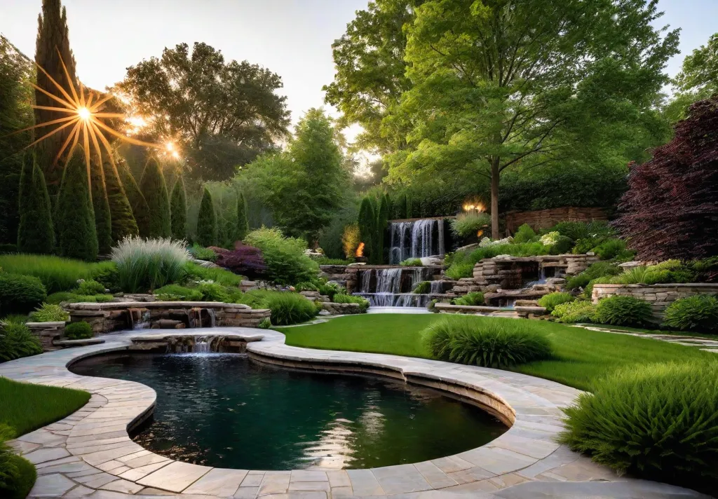
[[[434,238],[436,233],[436,238]],[[410,222],[389,224],[389,264],[396,265],[406,258],[443,256],[444,220],[442,218],[421,218]]]

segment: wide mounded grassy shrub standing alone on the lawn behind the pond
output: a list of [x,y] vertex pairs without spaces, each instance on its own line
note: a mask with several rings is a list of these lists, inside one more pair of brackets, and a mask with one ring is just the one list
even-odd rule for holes
[[446,317],[422,333],[434,357],[461,364],[505,368],[551,358],[551,343],[528,322]]

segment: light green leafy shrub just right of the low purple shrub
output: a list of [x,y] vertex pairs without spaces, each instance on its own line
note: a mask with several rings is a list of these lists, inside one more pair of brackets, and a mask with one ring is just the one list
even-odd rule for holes
[[244,242],[261,249],[270,281],[291,285],[317,279],[319,265],[304,254],[304,240],[284,237],[277,228],[261,228],[248,233]]

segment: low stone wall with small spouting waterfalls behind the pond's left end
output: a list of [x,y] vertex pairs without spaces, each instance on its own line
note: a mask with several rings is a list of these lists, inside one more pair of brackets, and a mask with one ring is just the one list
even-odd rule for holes
[[200,324],[208,327],[211,322],[216,326],[257,327],[271,314],[269,309],[220,302],[71,303],[65,308],[70,312],[71,322],[88,322],[95,334],[133,329],[138,322],[149,322],[150,327],[162,329]]

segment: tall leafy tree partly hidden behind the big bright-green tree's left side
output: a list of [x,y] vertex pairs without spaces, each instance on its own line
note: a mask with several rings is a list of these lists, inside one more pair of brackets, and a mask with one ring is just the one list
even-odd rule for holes
[[334,82],[323,88],[325,100],[342,111],[342,125],[362,126],[357,145],[363,149],[386,154],[406,146],[406,124],[394,121],[382,126],[382,122],[411,88],[402,27],[414,20],[416,4],[421,1],[370,1],[332,44],[336,74]]

